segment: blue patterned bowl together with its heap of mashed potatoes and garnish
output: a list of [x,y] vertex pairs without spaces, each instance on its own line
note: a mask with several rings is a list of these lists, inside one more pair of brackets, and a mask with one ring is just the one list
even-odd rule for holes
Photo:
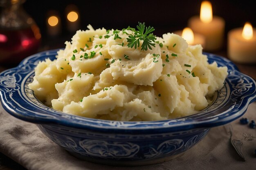
[[125,166],[172,159],[246,112],[253,78],[152,30],[77,31],[65,49],[2,72],[2,106],[76,157]]

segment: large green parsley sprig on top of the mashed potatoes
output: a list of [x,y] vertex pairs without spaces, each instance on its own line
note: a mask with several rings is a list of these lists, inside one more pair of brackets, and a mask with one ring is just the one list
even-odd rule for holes
[[148,49],[152,50],[151,46],[155,47],[155,40],[157,39],[155,35],[152,33],[155,31],[154,27],[148,26],[145,30],[145,22],[143,24],[139,22],[139,25],[137,25],[137,29],[135,30],[134,35],[129,35],[127,39],[127,46],[132,48],[134,46],[135,49],[139,47],[140,43],[139,40],[143,40],[143,43],[141,44],[141,50],[147,51]]

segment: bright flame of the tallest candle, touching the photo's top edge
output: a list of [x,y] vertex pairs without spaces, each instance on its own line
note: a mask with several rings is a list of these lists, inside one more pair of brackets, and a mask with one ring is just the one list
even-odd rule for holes
[[211,2],[203,1],[200,10],[200,20],[204,23],[209,23],[212,21],[212,7]]

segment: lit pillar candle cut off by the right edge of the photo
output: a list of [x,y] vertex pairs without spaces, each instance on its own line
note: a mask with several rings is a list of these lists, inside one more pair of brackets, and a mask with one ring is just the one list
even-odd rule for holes
[[256,29],[249,22],[228,33],[228,55],[239,63],[256,63]]

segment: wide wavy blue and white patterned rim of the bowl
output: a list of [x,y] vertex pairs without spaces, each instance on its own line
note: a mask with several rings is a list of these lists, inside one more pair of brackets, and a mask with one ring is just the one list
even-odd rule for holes
[[[104,131],[104,132],[110,132],[110,131],[126,132],[126,133],[141,133],[141,132],[151,133],[151,132],[166,132],[166,131],[173,132],[177,130],[179,131],[190,130],[194,128],[211,128],[211,127],[227,124],[241,117],[246,112],[248,105],[256,100],[256,82],[252,77],[249,77],[248,75],[241,73],[236,67],[236,65],[225,57],[221,57],[219,55],[215,55],[211,53],[203,53],[204,55],[207,55],[208,60],[211,63],[217,62],[218,65],[222,64],[223,66],[226,65],[228,67],[229,75],[225,80],[225,86],[230,88],[231,94],[228,94],[229,102],[231,100],[232,101],[236,100],[236,102],[230,105],[231,108],[226,109],[219,116],[215,115],[213,117],[206,117],[206,118],[199,117],[197,119],[193,119],[194,115],[190,115],[186,117],[180,117],[180,118],[168,119],[168,120],[162,120],[162,121],[109,121],[109,120],[80,117],[76,115],[69,115],[60,111],[53,110],[51,108],[48,109],[49,111],[48,116],[47,115],[40,116],[40,114],[42,113],[39,113],[37,111],[36,113],[34,113],[34,110],[38,108],[32,107],[32,108],[26,108],[27,110],[26,109],[24,110],[24,108],[20,109],[19,108],[20,106],[18,106],[18,104],[15,104],[15,107],[13,107],[14,106],[13,103],[14,102],[17,103],[17,101],[13,100],[13,98],[17,100],[17,96],[15,95],[18,95],[18,97],[20,98],[24,97],[25,92],[24,92],[24,89],[22,90],[21,85],[22,83],[24,83],[25,78],[29,79],[29,76],[28,76],[29,74],[30,75],[33,74],[33,71],[34,71],[33,66],[36,66],[36,64],[39,61],[38,59],[43,60],[49,56],[54,58],[58,50],[60,49],[54,49],[54,50],[48,50],[48,51],[36,53],[22,60],[22,62],[20,62],[20,64],[17,67],[10,68],[0,73],[1,103],[3,108],[8,113],[10,113],[11,115],[19,119],[36,123],[36,124],[53,124],[58,126],[68,126],[70,128],[90,129],[90,130]],[[24,75],[21,75],[22,73],[24,73]],[[4,84],[5,82],[3,78],[5,76],[14,76],[16,78],[15,86],[7,88],[6,84]],[[246,82],[245,85],[244,85],[244,82]],[[246,86],[246,84],[250,86],[248,87]],[[239,86],[236,86],[236,85],[239,85]],[[24,86],[24,88],[26,87]],[[240,92],[241,89],[242,89],[242,93]],[[29,91],[29,89],[26,89],[26,90]],[[33,94],[33,91],[30,90],[29,93]],[[19,102],[24,102],[24,101],[25,100],[22,100]],[[225,107],[227,106],[225,105]],[[202,112],[200,111],[195,115],[198,115],[201,113]]]

